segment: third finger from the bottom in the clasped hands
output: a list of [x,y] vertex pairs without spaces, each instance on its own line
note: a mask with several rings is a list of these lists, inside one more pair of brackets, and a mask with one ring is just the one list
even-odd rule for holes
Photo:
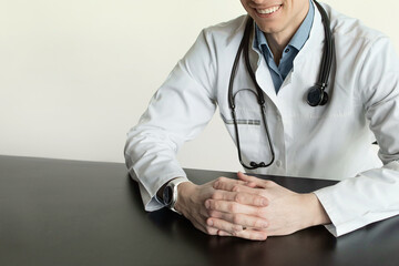
[[243,205],[236,202],[226,202],[226,201],[217,201],[217,200],[206,200],[205,207],[209,211],[217,211],[223,213],[231,214],[247,214],[257,216],[262,213],[260,207]]

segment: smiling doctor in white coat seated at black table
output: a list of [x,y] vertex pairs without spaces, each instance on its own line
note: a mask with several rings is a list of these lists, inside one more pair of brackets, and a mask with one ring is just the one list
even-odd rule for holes
[[[320,224],[340,236],[398,215],[389,39],[315,1],[241,1],[248,16],[203,30],[129,133],[126,165],[145,209],[167,206],[209,235],[248,239]],[[191,183],[175,156],[216,106],[246,172],[340,182],[308,194],[243,173]]]

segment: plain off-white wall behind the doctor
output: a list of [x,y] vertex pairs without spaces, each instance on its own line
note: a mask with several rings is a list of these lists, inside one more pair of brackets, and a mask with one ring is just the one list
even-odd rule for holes
[[[399,51],[399,2],[325,2]],[[238,0],[0,0],[0,154],[124,162],[126,132],[200,31],[243,13]],[[178,157],[241,168],[217,113]]]

